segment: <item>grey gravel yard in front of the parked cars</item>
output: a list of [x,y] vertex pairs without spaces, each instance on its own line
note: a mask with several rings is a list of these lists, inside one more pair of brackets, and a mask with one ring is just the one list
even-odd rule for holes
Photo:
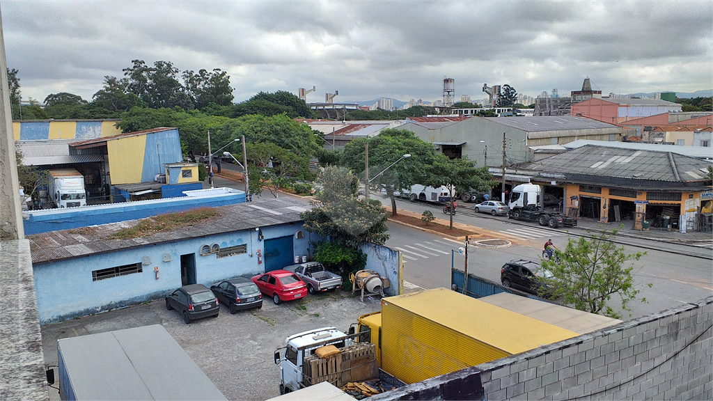
[[[188,352],[230,400],[267,400],[279,395],[279,367],[275,349],[292,334],[324,326],[347,330],[356,318],[381,308],[379,297],[364,298],[347,292],[309,295],[302,300],[275,305],[264,299],[262,308],[231,315],[220,306],[218,318],[190,325],[162,300],[113,310],[99,315],[42,326],[46,365],[57,365],[57,340],[64,337],[160,324]],[[56,377],[58,377],[56,375]],[[50,399],[59,400],[50,389]]]

